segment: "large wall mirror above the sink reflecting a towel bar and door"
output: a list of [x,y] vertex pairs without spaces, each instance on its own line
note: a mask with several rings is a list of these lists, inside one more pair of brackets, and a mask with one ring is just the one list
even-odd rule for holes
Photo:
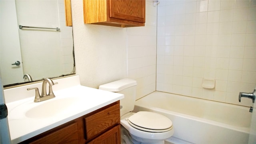
[[4,87],[75,74],[64,0],[1,0],[0,14]]

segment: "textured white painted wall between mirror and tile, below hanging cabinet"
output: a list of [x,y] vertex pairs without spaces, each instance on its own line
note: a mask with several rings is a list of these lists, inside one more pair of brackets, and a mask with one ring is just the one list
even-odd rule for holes
[[76,74],[84,86],[127,76],[126,28],[84,24],[83,1],[72,0]]

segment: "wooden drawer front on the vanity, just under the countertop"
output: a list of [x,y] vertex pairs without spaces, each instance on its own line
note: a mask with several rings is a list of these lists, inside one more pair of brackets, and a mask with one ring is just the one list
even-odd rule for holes
[[120,123],[119,102],[84,118],[86,139],[93,138],[108,128]]

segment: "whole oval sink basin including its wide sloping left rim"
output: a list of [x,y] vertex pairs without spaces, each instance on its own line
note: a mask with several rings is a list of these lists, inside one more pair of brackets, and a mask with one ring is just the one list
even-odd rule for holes
[[43,102],[34,102],[34,99],[28,99],[10,110],[8,116],[13,119],[61,117],[70,114],[80,102],[81,98],[69,96],[56,96],[56,98]]

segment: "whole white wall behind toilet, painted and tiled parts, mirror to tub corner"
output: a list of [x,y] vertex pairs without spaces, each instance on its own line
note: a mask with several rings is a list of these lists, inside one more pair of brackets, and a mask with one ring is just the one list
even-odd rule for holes
[[76,73],[98,88],[121,78],[137,80],[137,98],[155,90],[156,7],[146,1],[146,26],[118,28],[84,24],[82,0],[72,0]]

